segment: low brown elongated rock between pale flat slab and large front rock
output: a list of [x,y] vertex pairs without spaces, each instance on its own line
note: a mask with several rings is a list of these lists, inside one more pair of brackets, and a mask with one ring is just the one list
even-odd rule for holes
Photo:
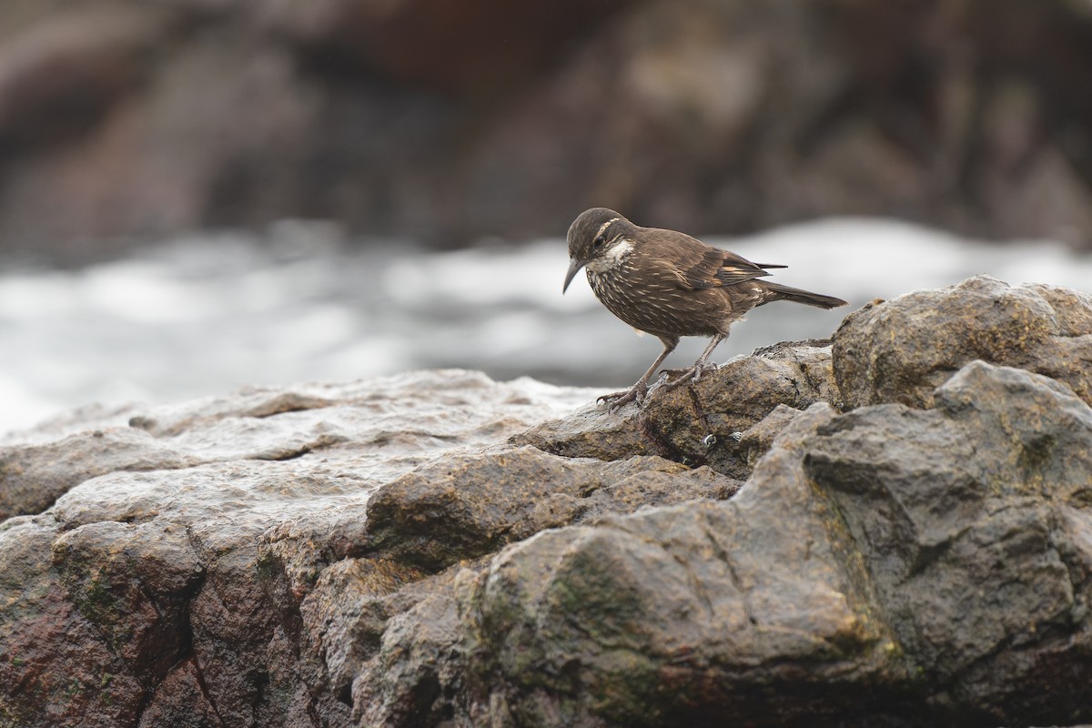
[[519,447],[455,456],[380,488],[368,502],[369,552],[439,571],[539,530],[605,513],[698,498],[738,484],[655,456],[604,463]]

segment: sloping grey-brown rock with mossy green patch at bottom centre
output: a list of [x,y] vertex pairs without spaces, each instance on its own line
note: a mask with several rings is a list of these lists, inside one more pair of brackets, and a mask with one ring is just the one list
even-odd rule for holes
[[[904,666],[800,457],[807,434],[833,417],[822,404],[802,414],[731,501],[548,530],[506,549],[466,576],[462,639],[415,646],[461,651],[462,672],[446,678],[422,660],[404,682],[431,675],[424,707],[465,711],[456,725],[716,725],[725,714],[783,725],[875,709]],[[389,694],[385,676],[363,673],[354,695]],[[805,687],[812,679],[824,688]],[[468,704],[450,697],[455,684],[471,685]],[[391,713],[368,715],[361,725]]]

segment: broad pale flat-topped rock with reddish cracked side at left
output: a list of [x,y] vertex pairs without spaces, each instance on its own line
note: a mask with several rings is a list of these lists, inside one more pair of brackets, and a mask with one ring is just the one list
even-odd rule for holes
[[369,494],[590,396],[423,372],[149,408],[142,429],[10,446],[4,492],[49,487],[57,502],[0,525],[0,716],[346,725],[305,682],[300,599],[363,549]]

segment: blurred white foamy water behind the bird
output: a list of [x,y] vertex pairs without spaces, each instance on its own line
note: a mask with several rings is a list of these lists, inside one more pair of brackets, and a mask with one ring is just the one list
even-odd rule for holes
[[[978,273],[1092,289],[1092,259],[1060,244],[986,244],[900,223],[831,219],[710,241],[790,265],[775,281],[851,301],[835,311],[757,309],[717,361],[828,336],[873,298]],[[420,368],[632,383],[660,342],[614,319],[582,276],[562,297],[567,266],[561,239],[425,252],[397,241],[346,246],[331,226],[286,223],[264,239],[179,238],[78,271],[9,270],[0,274],[0,433],[92,402]],[[703,345],[685,341],[668,366],[690,363]]]

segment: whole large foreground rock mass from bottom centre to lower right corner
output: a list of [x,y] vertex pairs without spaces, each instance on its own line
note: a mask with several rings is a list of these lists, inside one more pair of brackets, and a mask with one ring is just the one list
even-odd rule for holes
[[935,398],[814,405],[728,502],[473,568],[392,620],[359,725],[1089,719],[1092,409],[984,362]]

